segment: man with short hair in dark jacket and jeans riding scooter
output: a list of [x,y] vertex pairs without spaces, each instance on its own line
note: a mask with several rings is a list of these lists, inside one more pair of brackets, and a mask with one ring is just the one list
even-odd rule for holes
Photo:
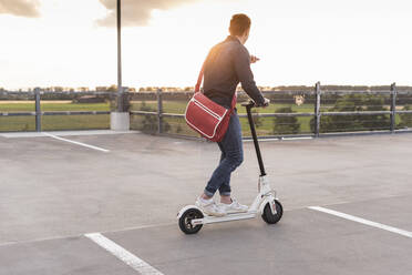
[[[256,86],[250,70],[250,63],[255,63],[259,59],[249,55],[244,47],[249,38],[249,31],[250,19],[246,14],[233,16],[229,27],[230,35],[213,47],[205,61],[204,94],[228,109],[239,82],[257,105],[269,104],[269,100],[265,99]],[[215,216],[246,212],[248,206],[238,203],[230,196],[230,174],[244,160],[241,129],[236,109],[230,116],[227,132],[218,145],[222,151],[219,165],[213,172],[204,193],[197,198],[196,205],[206,214]],[[216,204],[213,200],[216,191],[220,193],[220,204]]]

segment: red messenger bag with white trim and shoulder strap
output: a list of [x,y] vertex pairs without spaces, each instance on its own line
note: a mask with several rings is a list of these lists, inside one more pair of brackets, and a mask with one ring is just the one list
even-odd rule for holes
[[236,92],[231,99],[230,109],[226,109],[209,100],[200,92],[204,65],[197,78],[195,94],[186,106],[185,120],[187,125],[202,136],[213,142],[219,142],[225,136],[229,125],[230,115],[236,105]]

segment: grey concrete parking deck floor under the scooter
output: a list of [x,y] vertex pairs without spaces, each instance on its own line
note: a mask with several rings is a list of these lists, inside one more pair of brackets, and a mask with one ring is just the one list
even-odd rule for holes
[[[187,236],[176,213],[202,192],[216,144],[94,133],[0,134],[1,275],[412,274],[412,134],[261,142],[282,220]],[[251,202],[257,176],[246,142],[234,196]]]

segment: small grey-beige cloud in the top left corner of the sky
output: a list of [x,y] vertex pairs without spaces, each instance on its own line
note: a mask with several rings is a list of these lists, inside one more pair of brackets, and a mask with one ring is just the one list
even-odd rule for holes
[[40,16],[39,0],[0,0],[0,14],[35,18]]

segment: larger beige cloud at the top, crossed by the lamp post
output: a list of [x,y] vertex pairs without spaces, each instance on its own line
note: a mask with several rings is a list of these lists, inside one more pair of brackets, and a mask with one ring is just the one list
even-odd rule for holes
[[[105,18],[97,20],[99,26],[116,24],[116,0],[100,0],[109,10]],[[146,26],[153,10],[168,10],[184,3],[199,0],[122,0],[122,26]]]

